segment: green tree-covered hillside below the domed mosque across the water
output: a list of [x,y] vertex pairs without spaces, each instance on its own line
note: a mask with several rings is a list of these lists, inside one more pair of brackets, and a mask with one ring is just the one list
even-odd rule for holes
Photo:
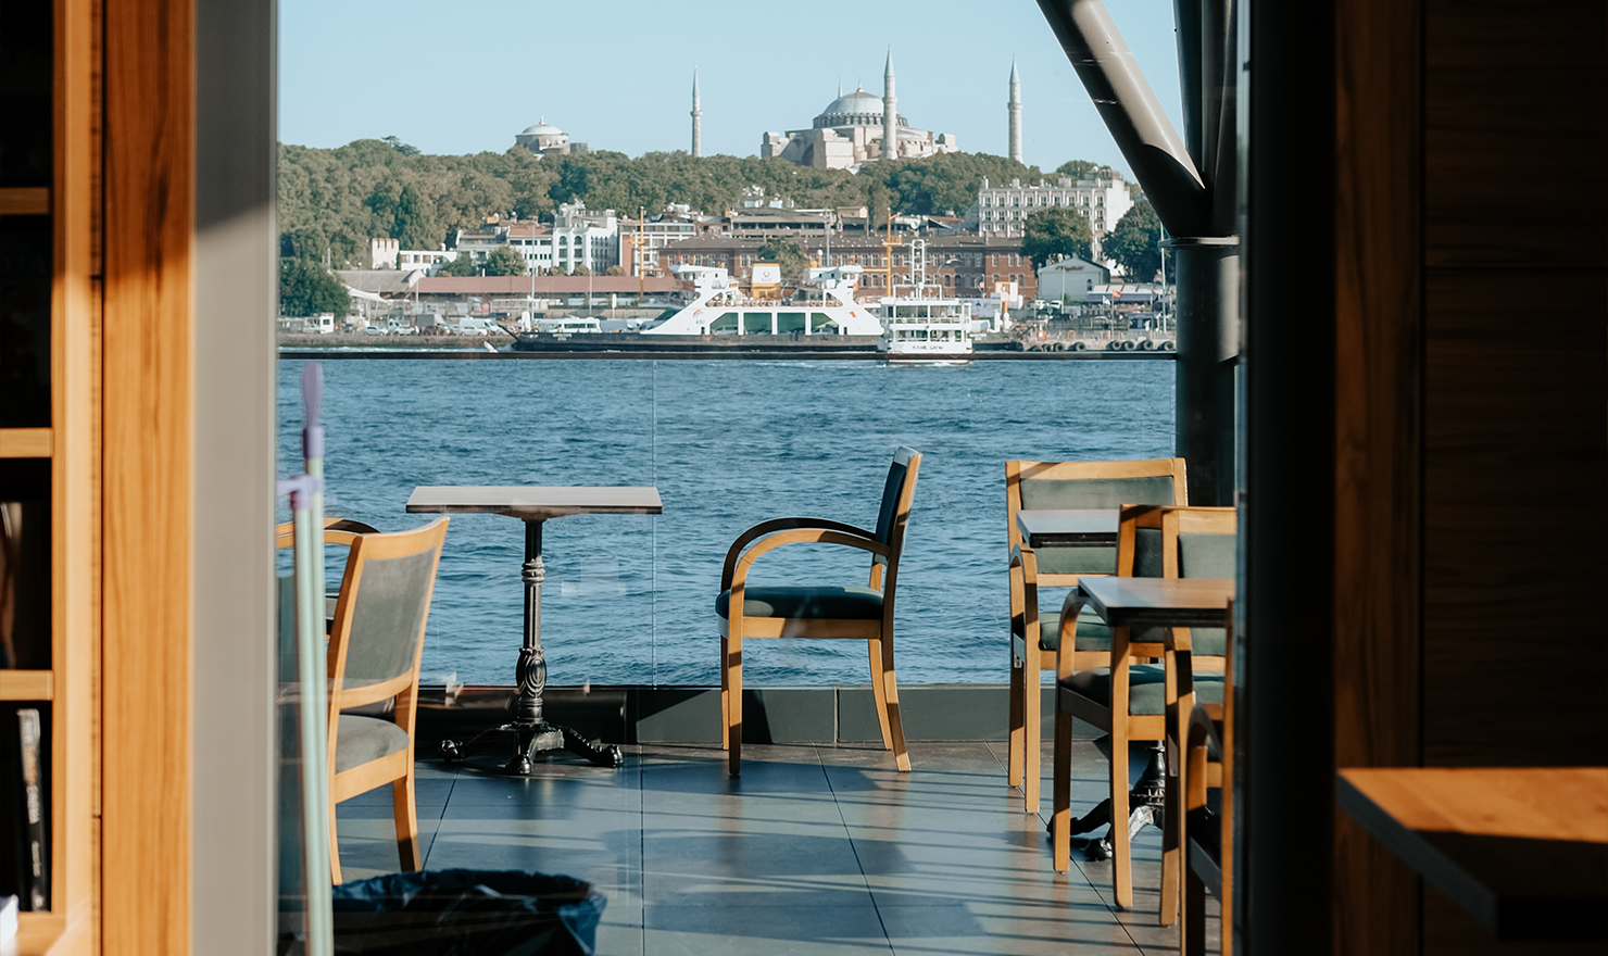
[[[1095,169],[1073,161],[1063,172]],[[944,153],[904,162],[872,162],[859,174],[798,167],[785,159],[687,153],[590,153],[537,159],[523,148],[471,156],[428,156],[396,137],[357,140],[334,149],[280,145],[280,230],[299,257],[334,267],[355,264],[371,236],[404,249],[436,249],[452,230],[490,214],[552,219],[560,202],[635,217],[671,202],[720,215],[749,186],[806,209],[868,206],[896,214],[965,214],[978,186],[1037,180],[1036,165],[982,153]],[[1053,174],[1050,174],[1053,175]]]

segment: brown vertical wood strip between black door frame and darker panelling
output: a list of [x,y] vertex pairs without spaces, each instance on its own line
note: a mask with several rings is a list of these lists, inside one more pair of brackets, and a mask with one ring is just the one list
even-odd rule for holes
[[[1421,6],[1335,10],[1335,765],[1418,762]],[[1417,953],[1418,880],[1335,811],[1335,953]]]

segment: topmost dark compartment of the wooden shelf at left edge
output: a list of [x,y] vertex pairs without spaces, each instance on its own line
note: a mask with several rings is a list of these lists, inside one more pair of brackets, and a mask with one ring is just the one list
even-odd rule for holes
[[51,3],[0,5],[0,188],[51,178]]

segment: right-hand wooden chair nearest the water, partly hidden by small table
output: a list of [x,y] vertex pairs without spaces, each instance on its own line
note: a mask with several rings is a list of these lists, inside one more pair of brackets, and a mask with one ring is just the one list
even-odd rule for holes
[[[1182,458],[1147,461],[1007,461],[1005,541],[1010,548],[1010,742],[1007,779],[1023,787],[1028,813],[1039,811],[1039,672],[1056,670],[1063,631],[1076,630],[1073,670],[1108,667],[1111,631],[1093,612],[1071,628],[1058,612],[1040,614],[1039,588],[1076,588],[1085,574],[1113,574],[1114,548],[1044,548],[1021,540],[1016,513],[1055,508],[1110,508],[1122,505],[1187,505]],[[1045,659],[1050,654],[1050,659]]]

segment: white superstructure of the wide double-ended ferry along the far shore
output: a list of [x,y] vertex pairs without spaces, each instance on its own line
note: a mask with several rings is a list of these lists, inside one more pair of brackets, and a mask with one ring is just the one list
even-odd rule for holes
[[693,283],[693,300],[642,326],[643,336],[880,336],[875,308],[854,300],[859,265],[809,270],[809,286],[793,299],[753,299],[724,268],[677,265]]

